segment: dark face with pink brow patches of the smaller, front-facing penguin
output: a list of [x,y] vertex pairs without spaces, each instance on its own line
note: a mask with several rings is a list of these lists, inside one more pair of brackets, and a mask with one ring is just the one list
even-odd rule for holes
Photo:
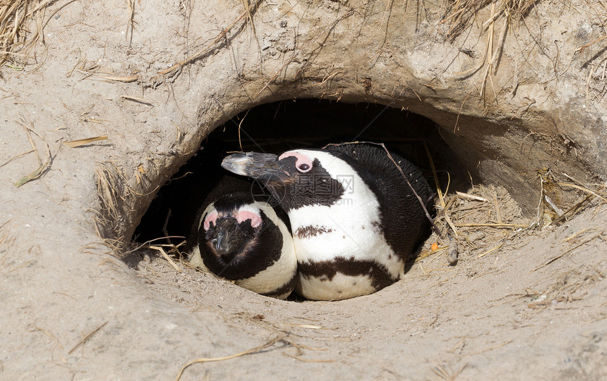
[[203,218],[200,227],[208,248],[226,262],[241,254],[263,225],[258,208],[251,204],[232,204],[226,208],[215,202]]

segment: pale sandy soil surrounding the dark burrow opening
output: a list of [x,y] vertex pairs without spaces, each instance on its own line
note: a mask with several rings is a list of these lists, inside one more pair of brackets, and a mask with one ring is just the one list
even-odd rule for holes
[[[605,379],[607,204],[592,196],[549,226],[546,203],[534,211],[538,174],[564,211],[604,186],[604,49],[578,50],[604,35],[604,13],[540,1],[539,32],[510,30],[481,99],[486,66],[456,74],[487,49],[490,5],[454,44],[429,2],[395,1],[389,14],[379,1],[263,3],[257,44],[240,1],[57,1],[30,58],[0,68],[0,380],[172,380],[189,361],[243,353],[181,380]],[[403,280],[315,302],[253,294],[179,259],[176,270],[151,249],[119,258],[114,244],[130,242],[212,128],[301,97],[406,108],[441,126],[476,184],[457,190],[487,200],[450,192],[457,266],[427,253],[430,237]],[[578,188],[565,202],[556,182]]]

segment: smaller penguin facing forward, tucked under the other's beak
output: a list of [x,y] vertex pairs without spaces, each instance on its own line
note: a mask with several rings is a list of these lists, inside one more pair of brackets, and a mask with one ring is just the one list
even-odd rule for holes
[[274,208],[251,192],[224,194],[203,206],[190,241],[193,266],[277,299],[294,289],[291,233]]

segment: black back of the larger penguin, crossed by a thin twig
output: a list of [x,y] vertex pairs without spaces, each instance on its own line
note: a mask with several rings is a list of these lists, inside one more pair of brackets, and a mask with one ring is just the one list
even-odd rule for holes
[[[392,250],[404,260],[414,250],[428,227],[428,218],[419,199],[403,179],[383,147],[373,144],[341,144],[327,146],[335,156],[349,163],[380,204],[380,227]],[[415,165],[390,151],[407,180],[421,197],[429,213],[433,211],[434,194]]]

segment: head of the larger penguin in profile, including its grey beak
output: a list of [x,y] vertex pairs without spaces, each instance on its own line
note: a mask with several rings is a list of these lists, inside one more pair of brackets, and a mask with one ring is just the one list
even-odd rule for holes
[[324,151],[296,149],[280,156],[246,152],[224,158],[222,167],[263,182],[289,211],[308,205],[330,206],[342,198],[344,181],[354,170]]

